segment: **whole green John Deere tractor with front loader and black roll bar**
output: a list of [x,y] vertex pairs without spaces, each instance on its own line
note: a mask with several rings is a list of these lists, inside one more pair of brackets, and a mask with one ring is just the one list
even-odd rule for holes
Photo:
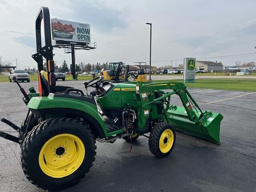
[[[41,20],[45,27],[44,47]],[[20,87],[28,107],[23,124],[18,127],[1,119],[19,136],[0,132],[1,137],[20,144],[21,165],[32,184],[49,190],[75,184],[93,165],[96,140],[113,143],[123,138],[132,143],[139,136],[146,136],[150,152],[158,158],[173,150],[175,131],[220,142],[223,116],[202,111],[183,83],[101,83],[100,76],[84,83],[86,93],[57,86],[48,8],[41,8],[36,30],[37,53],[33,58],[38,64],[39,92],[30,88],[26,93]],[[46,72],[43,57],[47,60]],[[88,94],[89,87],[95,90]],[[178,95],[183,106],[171,105],[171,95]]]

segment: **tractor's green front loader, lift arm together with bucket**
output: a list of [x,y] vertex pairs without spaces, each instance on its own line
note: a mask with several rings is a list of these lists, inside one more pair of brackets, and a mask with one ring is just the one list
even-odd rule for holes
[[[183,83],[167,82],[137,84],[137,86],[139,90],[137,94],[140,94],[141,101],[142,103],[144,102],[144,108],[146,106],[146,101],[143,100],[143,93],[171,89],[171,92],[163,93],[162,96],[150,100],[149,105],[159,104],[163,110],[165,121],[172,124],[175,127],[175,130],[217,144],[220,143],[220,122],[223,119],[223,116],[211,111],[202,111]],[[183,107],[170,105],[171,95],[174,94],[179,96]],[[165,102],[165,104],[167,106],[164,107],[163,100],[166,99],[167,102]]]

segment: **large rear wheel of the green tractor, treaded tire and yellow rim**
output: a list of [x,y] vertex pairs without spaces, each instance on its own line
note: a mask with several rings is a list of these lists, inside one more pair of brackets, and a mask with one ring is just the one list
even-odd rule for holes
[[26,137],[21,164],[27,179],[39,188],[60,190],[89,172],[95,160],[92,131],[73,118],[53,118],[38,124]]

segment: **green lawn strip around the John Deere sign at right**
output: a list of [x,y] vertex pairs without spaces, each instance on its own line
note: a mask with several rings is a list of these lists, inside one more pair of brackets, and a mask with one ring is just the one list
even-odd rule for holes
[[[182,82],[182,80],[154,80],[153,82]],[[256,92],[254,79],[197,79],[195,83],[185,83],[188,88],[223,89]]]

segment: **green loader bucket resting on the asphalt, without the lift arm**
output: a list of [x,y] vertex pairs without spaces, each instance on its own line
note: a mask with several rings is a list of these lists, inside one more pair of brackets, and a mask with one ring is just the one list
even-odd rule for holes
[[[195,111],[195,113],[198,117],[201,115],[200,112]],[[220,113],[203,111],[200,123],[195,124],[189,120],[185,108],[172,106],[167,110],[167,118],[175,130],[179,132],[220,144],[220,121],[223,119]]]

